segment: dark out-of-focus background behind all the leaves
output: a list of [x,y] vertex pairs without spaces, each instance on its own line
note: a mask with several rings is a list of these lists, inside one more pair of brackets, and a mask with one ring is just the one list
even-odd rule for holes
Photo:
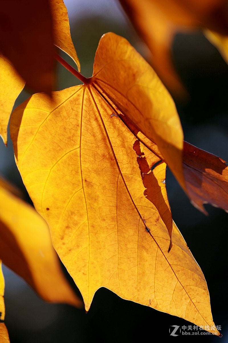
[[[93,71],[95,51],[100,37],[114,32],[125,38],[146,59],[148,50],[135,33],[115,0],[65,0],[71,35],[81,62],[81,73]],[[201,32],[178,33],[173,47],[176,71],[190,99],[176,106],[189,143],[228,161],[228,66]],[[72,64],[70,58],[64,58]],[[78,84],[78,80],[58,65],[57,90]],[[15,106],[30,94],[23,91]],[[12,144],[5,148],[0,140],[0,174],[29,197],[14,162]],[[166,178],[173,219],[200,265],[211,297],[212,315],[221,326],[223,343],[228,342],[227,242],[228,214],[206,205],[209,216],[196,210],[180,189],[170,171]],[[64,269],[64,267],[63,267]],[[3,266],[5,277],[5,322],[11,343],[50,342],[139,342],[167,338],[175,341],[217,342],[213,335],[170,336],[172,325],[191,323],[149,307],[123,300],[106,288],[100,288],[91,309],[84,310],[47,304],[16,274]],[[72,287],[78,292],[71,277]],[[79,293],[78,293],[79,294]],[[171,329],[172,330],[172,329]],[[172,331],[171,331],[172,332]],[[200,331],[201,332],[201,331]]]

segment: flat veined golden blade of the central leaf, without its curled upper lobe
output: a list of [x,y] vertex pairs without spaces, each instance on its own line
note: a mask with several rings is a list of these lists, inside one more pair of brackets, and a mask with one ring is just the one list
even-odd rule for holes
[[[54,92],[52,104],[35,94],[14,111],[17,165],[36,209],[49,223],[53,245],[86,309],[104,286],[124,299],[212,325],[202,271],[174,223],[168,253],[165,220],[144,194],[134,149],[138,138],[118,111],[113,115],[113,101],[105,96],[93,78],[91,84]],[[150,165],[153,157],[145,157]],[[164,170],[158,168],[158,174]],[[166,202],[164,184],[159,185]]]

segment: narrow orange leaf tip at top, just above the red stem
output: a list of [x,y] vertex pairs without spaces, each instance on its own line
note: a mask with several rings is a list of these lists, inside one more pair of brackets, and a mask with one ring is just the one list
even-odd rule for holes
[[80,62],[70,36],[70,26],[66,6],[63,0],[50,1],[53,15],[53,29],[55,45],[65,51],[77,64],[80,71]]

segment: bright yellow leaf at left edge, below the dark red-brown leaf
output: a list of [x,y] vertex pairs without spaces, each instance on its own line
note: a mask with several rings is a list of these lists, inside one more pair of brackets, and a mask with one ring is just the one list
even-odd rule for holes
[[7,126],[17,96],[25,82],[13,68],[11,62],[0,56],[0,135],[7,144]]

